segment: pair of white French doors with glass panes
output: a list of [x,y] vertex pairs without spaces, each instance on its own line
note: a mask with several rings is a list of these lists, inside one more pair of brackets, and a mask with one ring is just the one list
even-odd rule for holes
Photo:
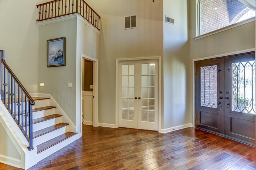
[[158,61],[119,63],[119,126],[158,130]]

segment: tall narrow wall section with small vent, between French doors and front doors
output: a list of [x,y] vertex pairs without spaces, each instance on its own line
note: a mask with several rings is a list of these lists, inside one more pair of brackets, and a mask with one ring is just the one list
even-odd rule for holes
[[164,0],[164,129],[190,123],[189,41],[186,0]]

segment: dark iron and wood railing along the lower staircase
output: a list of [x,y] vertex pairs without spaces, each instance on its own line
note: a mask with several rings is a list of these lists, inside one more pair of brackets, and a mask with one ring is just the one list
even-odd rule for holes
[[32,106],[35,102],[6,63],[4,50],[0,50],[0,57],[1,100],[28,140],[28,150],[33,150]]

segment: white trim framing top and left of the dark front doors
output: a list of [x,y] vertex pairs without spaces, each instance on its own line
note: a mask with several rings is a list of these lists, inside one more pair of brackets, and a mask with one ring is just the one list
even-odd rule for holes
[[193,115],[193,119],[192,119],[192,127],[195,127],[195,62],[196,61],[201,61],[201,60],[206,60],[206,59],[214,59],[214,58],[219,58],[219,57],[225,57],[225,56],[229,56],[229,55],[237,55],[237,54],[242,54],[242,53],[249,53],[249,52],[253,52],[255,51],[254,49],[247,49],[247,50],[242,50],[242,51],[236,51],[236,52],[231,52],[231,53],[224,53],[224,54],[220,54],[220,55],[213,55],[213,56],[209,56],[209,57],[203,57],[200,59],[193,59],[192,60],[192,115]]

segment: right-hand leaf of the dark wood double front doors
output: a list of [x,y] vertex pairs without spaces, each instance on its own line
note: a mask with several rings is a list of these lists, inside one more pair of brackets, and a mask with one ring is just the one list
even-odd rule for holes
[[255,54],[224,59],[224,134],[255,145]]

